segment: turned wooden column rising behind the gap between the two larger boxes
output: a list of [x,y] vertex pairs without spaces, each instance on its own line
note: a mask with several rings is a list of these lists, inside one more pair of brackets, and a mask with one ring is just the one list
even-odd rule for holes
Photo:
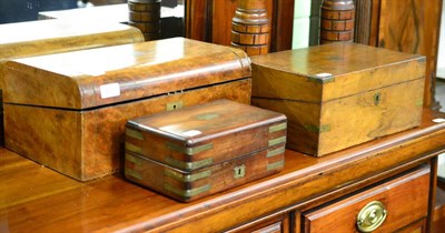
[[266,0],[238,0],[231,22],[231,45],[249,55],[265,54],[269,51],[269,31]]

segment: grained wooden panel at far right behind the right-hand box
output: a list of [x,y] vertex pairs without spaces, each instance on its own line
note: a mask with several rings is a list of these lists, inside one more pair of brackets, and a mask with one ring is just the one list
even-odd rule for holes
[[427,57],[425,98],[432,104],[442,1],[380,1],[378,47]]

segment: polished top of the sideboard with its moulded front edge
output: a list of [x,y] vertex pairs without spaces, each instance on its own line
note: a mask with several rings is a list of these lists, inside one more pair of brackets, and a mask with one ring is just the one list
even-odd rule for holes
[[[111,175],[88,183],[71,183],[66,176],[30,163],[27,172],[34,186],[47,185],[39,197],[29,199],[32,190],[23,172],[6,172],[17,166],[17,160],[1,149],[0,179],[23,184],[16,189],[0,183],[0,200],[22,192],[0,210],[4,227],[11,232],[217,232],[239,226],[289,210],[305,211],[332,201],[369,184],[425,164],[431,158],[445,152],[445,123],[433,119],[443,113],[424,112],[419,128],[384,136],[372,142],[313,158],[286,151],[285,169],[275,175],[218,193],[192,203],[178,203]],[[23,159],[20,158],[19,161]],[[9,161],[9,162],[8,162]],[[59,182],[66,182],[60,186]],[[16,190],[16,191],[13,191]],[[236,217],[234,217],[236,216]]]

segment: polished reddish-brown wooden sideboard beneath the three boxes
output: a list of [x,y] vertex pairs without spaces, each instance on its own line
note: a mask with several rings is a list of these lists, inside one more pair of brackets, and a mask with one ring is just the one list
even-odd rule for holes
[[445,152],[438,118],[425,110],[419,128],[323,158],[287,150],[280,173],[191,203],[119,174],[80,183],[0,149],[0,231],[357,232],[358,212],[380,201],[386,220],[375,232],[429,232]]

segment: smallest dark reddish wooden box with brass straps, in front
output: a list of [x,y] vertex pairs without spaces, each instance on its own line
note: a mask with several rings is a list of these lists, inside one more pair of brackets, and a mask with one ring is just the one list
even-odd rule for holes
[[125,175],[189,202],[284,168],[286,116],[229,100],[128,121]]

